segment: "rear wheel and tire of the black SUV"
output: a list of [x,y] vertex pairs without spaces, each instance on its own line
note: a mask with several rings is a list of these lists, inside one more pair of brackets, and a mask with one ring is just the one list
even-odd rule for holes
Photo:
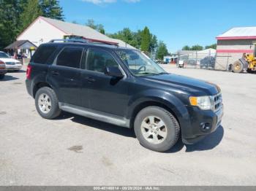
[[57,95],[50,87],[42,87],[37,90],[35,104],[37,112],[45,119],[51,120],[61,114]]

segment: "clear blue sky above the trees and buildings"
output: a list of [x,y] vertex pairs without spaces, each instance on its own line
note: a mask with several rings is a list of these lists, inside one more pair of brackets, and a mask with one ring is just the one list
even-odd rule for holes
[[61,0],[67,22],[102,24],[106,33],[148,26],[170,52],[206,46],[233,27],[256,26],[256,0]]

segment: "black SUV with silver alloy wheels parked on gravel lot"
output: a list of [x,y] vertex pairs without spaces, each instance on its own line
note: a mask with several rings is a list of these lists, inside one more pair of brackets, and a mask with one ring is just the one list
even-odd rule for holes
[[65,111],[133,128],[140,144],[158,152],[180,134],[193,144],[222,120],[217,85],[168,74],[139,50],[52,41],[39,46],[26,75],[42,117]]

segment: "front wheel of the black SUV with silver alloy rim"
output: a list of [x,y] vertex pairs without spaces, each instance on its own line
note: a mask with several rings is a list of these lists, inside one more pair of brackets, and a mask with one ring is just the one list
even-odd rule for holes
[[178,121],[173,114],[159,106],[142,109],[135,117],[134,130],[143,147],[157,152],[165,152],[173,147],[180,133]]

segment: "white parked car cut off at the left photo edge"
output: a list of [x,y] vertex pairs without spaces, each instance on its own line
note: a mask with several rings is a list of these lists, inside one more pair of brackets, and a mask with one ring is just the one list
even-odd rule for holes
[[22,67],[20,61],[10,58],[10,55],[7,55],[7,53],[1,51],[0,61],[5,63],[7,71],[19,71]]

